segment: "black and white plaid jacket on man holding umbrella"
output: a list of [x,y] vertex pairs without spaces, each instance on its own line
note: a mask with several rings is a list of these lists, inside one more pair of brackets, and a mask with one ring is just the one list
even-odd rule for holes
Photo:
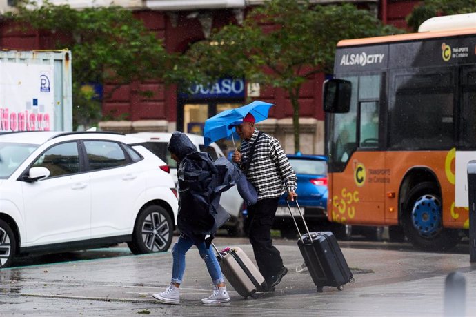
[[[241,170],[244,170],[245,163],[249,159],[250,147],[256,141],[258,133],[259,131],[255,128],[249,141],[241,141],[241,162],[239,163]],[[263,132],[255,145],[255,153],[246,178],[257,189],[258,200],[279,197],[286,191],[295,192],[297,187],[296,174],[281,144],[277,139]]]

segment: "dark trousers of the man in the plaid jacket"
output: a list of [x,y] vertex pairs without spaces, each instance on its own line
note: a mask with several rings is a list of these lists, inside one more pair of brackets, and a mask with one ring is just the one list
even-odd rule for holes
[[261,199],[255,205],[248,207],[250,243],[255,252],[259,272],[268,280],[283,266],[279,250],[272,245],[271,227],[275,220],[277,198]]

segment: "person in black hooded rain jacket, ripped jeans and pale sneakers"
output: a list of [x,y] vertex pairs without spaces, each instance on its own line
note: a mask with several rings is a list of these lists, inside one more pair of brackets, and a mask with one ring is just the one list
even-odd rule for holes
[[179,287],[184,278],[185,255],[196,245],[212,278],[213,292],[201,303],[224,303],[230,300],[224,276],[211,247],[217,229],[229,218],[219,205],[221,192],[235,185],[239,174],[226,159],[212,161],[205,152],[197,152],[195,145],[182,132],[173,132],[168,150],[177,161],[179,181],[179,213],[177,227],[181,234],[172,248],[172,279],[170,286],[152,297],[163,303],[179,303]]

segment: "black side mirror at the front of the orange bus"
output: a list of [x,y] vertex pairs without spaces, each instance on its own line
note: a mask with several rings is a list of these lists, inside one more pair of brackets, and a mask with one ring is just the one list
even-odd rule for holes
[[324,112],[347,113],[350,110],[352,84],[344,79],[324,81]]

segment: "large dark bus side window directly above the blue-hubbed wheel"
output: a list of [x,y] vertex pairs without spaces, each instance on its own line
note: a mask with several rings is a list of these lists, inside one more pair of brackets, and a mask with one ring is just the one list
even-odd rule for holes
[[390,147],[452,147],[455,120],[451,73],[400,75],[395,83],[395,99],[390,104]]

